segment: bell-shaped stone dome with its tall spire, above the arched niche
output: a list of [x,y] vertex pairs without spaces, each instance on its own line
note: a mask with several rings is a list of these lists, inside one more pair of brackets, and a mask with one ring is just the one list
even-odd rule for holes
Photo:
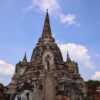
[[37,60],[42,60],[43,55],[46,51],[49,51],[53,54],[55,62],[63,61],[60,49],[55,43],[55,40],[52,36],[48,11],[46,13],[42,35],[39,38],[38,43],[33,50],[31,61],[36,62]]

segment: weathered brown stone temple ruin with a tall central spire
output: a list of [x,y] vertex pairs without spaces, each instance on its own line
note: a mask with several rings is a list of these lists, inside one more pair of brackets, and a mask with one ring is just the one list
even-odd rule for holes
[[63,61],[52,37],[48,11],[30,62],[25,54],[23,61],[16,64],[5,94],[6,100],[82,100],[86,96],[78,64],[68,53],[66,62]]

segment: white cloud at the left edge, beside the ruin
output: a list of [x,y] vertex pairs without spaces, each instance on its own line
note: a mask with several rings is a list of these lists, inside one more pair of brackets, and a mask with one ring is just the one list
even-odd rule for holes
[[7,64],[5,61],[0,60],[0,74],[1,75],[12,75],[15,67],[11,64]]

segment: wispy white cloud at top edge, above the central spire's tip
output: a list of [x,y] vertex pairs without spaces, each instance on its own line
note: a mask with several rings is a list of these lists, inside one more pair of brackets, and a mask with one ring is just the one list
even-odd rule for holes
[[60,10],[59,0],[31,0],[32,5],[27,7],[27,10],[35,8],[42,12],[45,12],[46,9],[49,9],[49,12],[55,12]]

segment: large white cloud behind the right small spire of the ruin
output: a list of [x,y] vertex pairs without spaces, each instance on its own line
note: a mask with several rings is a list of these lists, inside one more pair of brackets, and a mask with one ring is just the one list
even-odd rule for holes
[[64,60],[66,60],[67,50],[70,57],[84,65],[86,68],[93,68],[94,64],[91,61],[91,56],[88,54],[88,49],[83,45],[74,43],[59,44]]

